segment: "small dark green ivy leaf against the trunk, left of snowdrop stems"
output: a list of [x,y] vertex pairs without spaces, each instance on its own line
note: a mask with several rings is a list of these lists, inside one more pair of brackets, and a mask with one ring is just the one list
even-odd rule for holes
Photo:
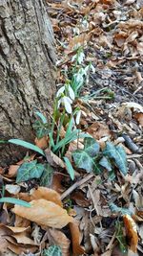
[[51,126],[48,123],[43,123],[40,120],[35,121],[32,125],[32,128],[36,131],[36,137],[41,139],[45,135],[48,135],[51,132]]

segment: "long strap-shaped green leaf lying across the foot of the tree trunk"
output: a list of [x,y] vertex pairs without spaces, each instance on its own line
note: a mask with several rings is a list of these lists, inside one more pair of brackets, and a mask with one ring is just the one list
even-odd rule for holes
[[45,156],[44,151],[42,151],[39,147],[31,144],[30,142],[26,142],[26,141],[20,140],[20,139],[10,139],[8,142],[10,142],[12,144],[16,144],[18,146],[22,146],[22,147],[27,148],[31,151],[36,151],[36,152]]

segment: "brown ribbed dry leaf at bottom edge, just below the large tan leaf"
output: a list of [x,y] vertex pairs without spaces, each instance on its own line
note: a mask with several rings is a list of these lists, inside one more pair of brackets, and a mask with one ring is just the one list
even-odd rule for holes
[[66,237],[66,235],[56,229],[49,228],[48,237],[50,244],[59,245],[62,250],[62,256],[70,256],[70,240]]

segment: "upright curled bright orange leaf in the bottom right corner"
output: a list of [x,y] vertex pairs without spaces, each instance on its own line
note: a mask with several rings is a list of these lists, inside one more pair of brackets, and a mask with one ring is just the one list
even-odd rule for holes
[[126,229],[126,235],[129,239],[130,249],[135,253],[138,244],[138,235],[135,221],[133,221],[133,218],[128,214],[123,216],[123,221]]

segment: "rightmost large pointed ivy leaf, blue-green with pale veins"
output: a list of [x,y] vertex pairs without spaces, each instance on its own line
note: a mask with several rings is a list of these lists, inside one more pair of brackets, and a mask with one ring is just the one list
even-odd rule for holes
[[109,158],[114,160],[115,165],[123,175],[127,175],[126,152],[121,146],[114,146],[111,142],[107,142],[103,153],[105,156],[109,156]]

